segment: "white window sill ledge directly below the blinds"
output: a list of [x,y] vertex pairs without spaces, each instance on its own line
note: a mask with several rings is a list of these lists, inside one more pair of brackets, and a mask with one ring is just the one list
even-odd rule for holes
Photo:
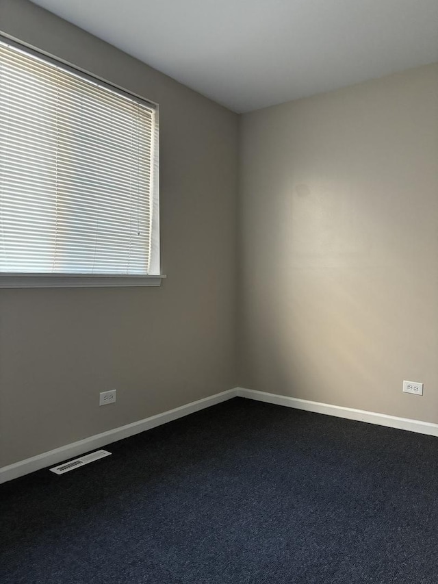
[[165,275],[59,275],[59,274],[2,274],[0,288],[126,288],[159,286]]

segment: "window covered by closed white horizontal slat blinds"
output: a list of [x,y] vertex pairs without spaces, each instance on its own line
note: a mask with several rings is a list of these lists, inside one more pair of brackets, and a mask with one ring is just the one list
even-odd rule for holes
[[157,127],[156,105],[0,40],[0,286],[159,283]]

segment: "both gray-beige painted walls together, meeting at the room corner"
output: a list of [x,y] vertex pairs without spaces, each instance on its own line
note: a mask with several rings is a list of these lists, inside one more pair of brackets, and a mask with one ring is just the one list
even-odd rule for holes
[[246,114],[239,158],[238,116],[105,42],[26,0],[0,28],[159,103],[168,274],[0,290],[0,466],[237,384],[438,422],[438,64]]

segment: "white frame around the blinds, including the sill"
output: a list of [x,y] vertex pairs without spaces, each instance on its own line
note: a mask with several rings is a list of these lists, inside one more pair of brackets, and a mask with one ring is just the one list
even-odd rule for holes
[[[29,55],[49,62],[68,73],[73,73],[81,78],[88,79],[98,86],[108,88],[113,92],[125,95],[133,101],[155,110],[155,136],[154,136],[154,181],[151,193],[152,200],[152,225],[151,225],[151,250],[150,269],[148,275],[114,275],[114,274],[68,274],[68,273],[38,273],[38,272],[0,272],[0,288],[102,288],[102,287],[132,287],[132,286],[159,286],[166,275],[160,268],[160,239],[159,239],[159,105],[150,99],[146,99],[117,84],[99,77],[90,71],[86,71],[75,64],[55,57],[51,53],[37,49],[21,40],[0,33],[0,41],[11,47],[15,47]],[[1,136],[0,136],[1,140]]]

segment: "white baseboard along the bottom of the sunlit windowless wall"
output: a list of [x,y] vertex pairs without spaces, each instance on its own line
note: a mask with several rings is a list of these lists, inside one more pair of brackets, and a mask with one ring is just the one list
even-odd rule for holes
[[364,409],[331,405],[329,403],[258,392],[256,390],[246,390],[244,388],[236,388],[235,394],[237,397],[294,407],[295,409],[304,409],[305,411],[313,411],[316,414],[326,414],[327,416],[336,416],[337,418],[346,418],[347,420],[357,420],[359,422],[368,422],[369,424],[378,424],[378,426],[387,426],[389,428],[409,430],[410,432],[417,432],[419,434],[438,436],[438,424],[433,424],[433,422],[421,422],[420,420],[411,420],[411,418],[397,418],[396,416],[389,416],[389,414],[377,414],[374,411],[366,411]]

